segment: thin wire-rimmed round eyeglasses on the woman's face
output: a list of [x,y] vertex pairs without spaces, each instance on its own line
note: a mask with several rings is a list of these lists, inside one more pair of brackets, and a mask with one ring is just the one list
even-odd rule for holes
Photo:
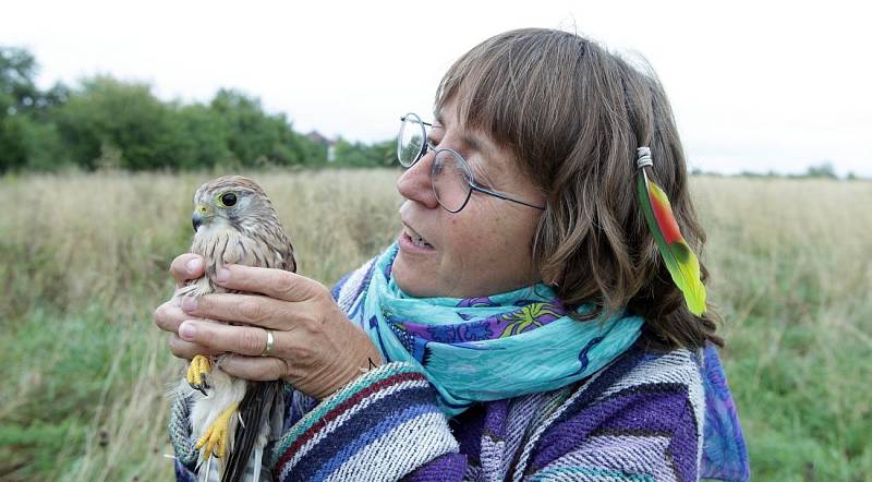
[[545,209],[524,201],[516,200],[506,194],[483,188],[475,183],[467,160],[457,152],[448,148],[437,149],[427,142],[427,128],[433,124],[424,122],[414,113],[407,113],[400,118],[400,133],[397,136],[397,159],[403,167],[412,167],[427,150],[436,153],[429,169],[431,185],[436,201],[449,213],[460,213],[470,202],[473,191],[484,193],[500,200],[523,204],[535,209]]

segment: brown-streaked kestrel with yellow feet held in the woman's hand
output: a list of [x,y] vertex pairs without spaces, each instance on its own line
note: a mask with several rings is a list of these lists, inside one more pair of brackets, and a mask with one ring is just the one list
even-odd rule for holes
[[[293,246],[269,197],[251,179],[211,180],[196,191],[194,205],[191,252],[205,258],[206,274],[177,290],[177,301],[227,292],[214,281],[226,264],[296,269]],[[267,337],[269,345],[271,333]],[[282,383],[230,376],[220,369],[221,357],[195,357],[178,390],[190,401],[194,448],[199,453],[197,479],[209,480],[215,457],[221,460],[221,481],[241,480],[246,472],[259,480],[274,410],[283,405]]]

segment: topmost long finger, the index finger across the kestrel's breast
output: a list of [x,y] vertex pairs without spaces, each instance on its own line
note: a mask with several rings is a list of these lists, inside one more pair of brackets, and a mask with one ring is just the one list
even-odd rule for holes
[[329,294],[324,285],[295,273],[274,268],[227,265],[216,273],[216,281],[225,288],[266,294],[286,301],[303,301]]

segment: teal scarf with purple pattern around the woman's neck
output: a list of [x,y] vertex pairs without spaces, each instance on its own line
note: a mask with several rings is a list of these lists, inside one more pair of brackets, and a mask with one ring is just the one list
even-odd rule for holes
[[[390,275],[397,250],[391,245],[352,275],[341,287],[340,304],[386,362],[421,367],[449,417],[475,401],[578,382],[620,356],[640,335],[639,316],[572,320],[543,284],[485,298],[409,297]],[[591,310],[584,305],[579,313]]]

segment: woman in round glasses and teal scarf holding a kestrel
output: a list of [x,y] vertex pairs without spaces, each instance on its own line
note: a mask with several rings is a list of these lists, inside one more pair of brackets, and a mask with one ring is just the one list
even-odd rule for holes
[[637,191],[645,169],[702,248],[654,75],[573,34],[513,31],[450,68],[435,112],[403,117],[398,242],[332,292],[230,266],[220,284],[263,297],[155,313],[175,356],[238,353],[227,372],[292,387],[276,477],[747,479],[714,315],[686,304]]

